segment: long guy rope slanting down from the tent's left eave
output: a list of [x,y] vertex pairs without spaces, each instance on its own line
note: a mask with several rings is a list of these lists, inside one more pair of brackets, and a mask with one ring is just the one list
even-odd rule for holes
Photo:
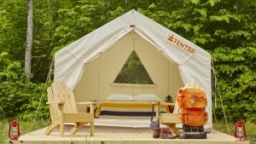
[[40,107],[41,107],[41,102],[42,102],[43,96],[44,96],[44,90],[45,90],[45,88],[46,88],[46,84],[50,81],[50,74],[51,74],[51,72],[52,72],[53,63],[54,63],[54,59],[51,60],[51,63],[50,63],[50,66],[49,66],[48,76],[47,76],[47,78],[46,78],[46,82],[44,83],[44,89],[43,89],[43,92],[42,92],[42,94],[41,94],[41,97],[40,97],[40,100],[39,100],[39,104],[38,104],[38,108],[37,108],[37,111],[36,111],[36,113],[35,113],[35,117],[33,118],[32,124],[30,125],[29,131],[32,131],[33,126],[34,126],[34,124],[35,124],[36,121],[37,121],[38,112],[39,112],[39,109],[40,109]]

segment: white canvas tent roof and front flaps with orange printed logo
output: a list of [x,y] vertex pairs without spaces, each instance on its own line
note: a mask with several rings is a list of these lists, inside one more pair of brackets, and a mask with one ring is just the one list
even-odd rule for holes
[[206,89],[207,95],[212,96],[211,55],[134,9],[57,51],[55,81],[74,88],[84,72],[84,64],[102,55],[131,31],[137,32],[176,63],[184,84],[198,82]]

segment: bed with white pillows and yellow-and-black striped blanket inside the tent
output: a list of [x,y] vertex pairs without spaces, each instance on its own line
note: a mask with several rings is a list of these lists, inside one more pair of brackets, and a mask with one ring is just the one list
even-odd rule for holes
[[[145,95],[109,95],[96,108],[96,118],[112,119],[148,119],[152,115],[152,107],[159,97],[152,94]],[[155,110],[155,109],[154,109]],[[160,105],[160,112],[168,112],[166,105]],[[155,111],[153,113],[155,115]]]

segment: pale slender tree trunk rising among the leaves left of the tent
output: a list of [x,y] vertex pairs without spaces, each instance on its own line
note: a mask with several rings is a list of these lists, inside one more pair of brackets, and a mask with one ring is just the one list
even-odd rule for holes
[[30,81],[31,61],[32,61],[32,32],[33,32],[33,1],[27,0],[27,30],[26,30],[26,55],[25,55],[25,72],[26,82]]

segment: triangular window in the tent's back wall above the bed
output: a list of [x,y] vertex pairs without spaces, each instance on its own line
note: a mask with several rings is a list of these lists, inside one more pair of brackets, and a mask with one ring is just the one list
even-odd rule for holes
[[119,75],[115,78],[114,83],[154,84],[135,51],[132,51],[122,70],[119,72]]

